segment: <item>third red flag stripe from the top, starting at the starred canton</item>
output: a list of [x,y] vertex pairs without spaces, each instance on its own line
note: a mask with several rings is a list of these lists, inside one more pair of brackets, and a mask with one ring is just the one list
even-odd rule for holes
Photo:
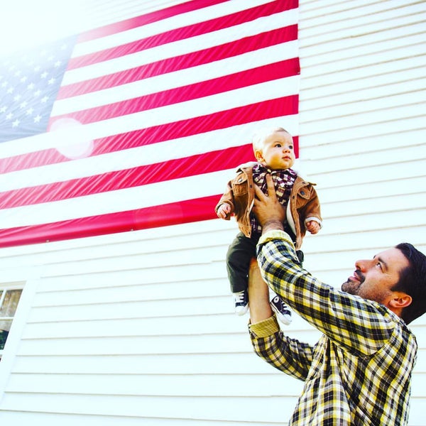
[[253,50],[267,48],[272,45],[278,45],[296,39],[297,25],[278,28],[273,31],[267,31],[266,33],[251,35],[241,40],[214,46],[213,48],[198,50],[197,52],[178,55],[174,58],[151,62],[146,65],[141,65],[140,67],[132,68],[131,70],[124,70],[111,75],[68,84],[60,88],[58,99],[96,92],[97,90],[128,84],[149,77],[155,77],[156,75],[167,74],[168,72],[185,70],[197,65],[204,65],[224,58],[231,58]]

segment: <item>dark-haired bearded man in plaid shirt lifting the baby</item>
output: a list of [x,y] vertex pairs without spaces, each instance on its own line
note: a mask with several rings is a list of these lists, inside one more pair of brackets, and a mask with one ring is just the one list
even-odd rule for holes
[[[426,257],[410,244],[357,261],[337,290],[302,269],[283,231],[285,212],[268,177],[256,187],[263,228],[249,279],[250,336],[256,354],[305,381],[290,425],[400,426],[408,422],[417,356],[407,324],[426,312]],[[280,332],[269,287],[320,332],[311,346]]]

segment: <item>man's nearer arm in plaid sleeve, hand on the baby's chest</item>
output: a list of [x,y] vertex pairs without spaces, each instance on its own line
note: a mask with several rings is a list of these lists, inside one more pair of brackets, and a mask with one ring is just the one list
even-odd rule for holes
[[381,349],[395,327],[387,308],[334,289],[301,268],[293,242],[283,231],[285,213],[276,200],[271,178],[268,196],[258,190],[256,196],[255,214],[263,226],[258,242],[263,280],[295,312],[334,342],[362,355]]

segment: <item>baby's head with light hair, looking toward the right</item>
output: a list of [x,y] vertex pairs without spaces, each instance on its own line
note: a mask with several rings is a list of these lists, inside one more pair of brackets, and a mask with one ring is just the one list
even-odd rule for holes
[[264,141],[263,148],[256,151],[259,163],[272,170],[288,169],[295,163],[293,138],[285,131],[275,131]]

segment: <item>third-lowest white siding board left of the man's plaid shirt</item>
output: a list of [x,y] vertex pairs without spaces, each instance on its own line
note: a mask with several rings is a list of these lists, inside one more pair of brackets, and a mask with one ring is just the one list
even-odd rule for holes
[[[239,386],[235,386],[239,383]],[[297,397],[303,383],[282,374],[13,374],[6,392],[79,395]]]

